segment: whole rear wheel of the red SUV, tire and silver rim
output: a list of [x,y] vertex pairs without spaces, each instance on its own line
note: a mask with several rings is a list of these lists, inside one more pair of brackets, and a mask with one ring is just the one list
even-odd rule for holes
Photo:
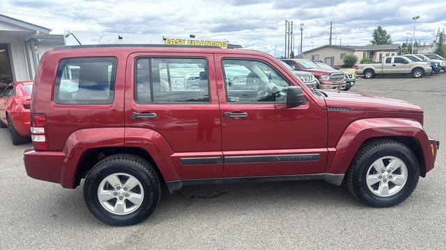
[[84,200],[93,215],[113,226],[138,224],[160,201],[160,180],[144,158],[117,154],[100,160],[86,177]]

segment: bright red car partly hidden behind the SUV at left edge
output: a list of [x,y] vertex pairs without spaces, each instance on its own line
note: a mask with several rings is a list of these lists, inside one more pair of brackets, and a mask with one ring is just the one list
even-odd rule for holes
[[14,145],[29,142],[33,81],[11,83],[0,96],[0,127],[8,127]]

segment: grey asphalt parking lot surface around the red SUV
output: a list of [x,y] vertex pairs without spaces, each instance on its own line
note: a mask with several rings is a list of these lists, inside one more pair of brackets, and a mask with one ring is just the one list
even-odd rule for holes
[[[424,127],[446,143],[446,73],[422,79],[359,79],[351,90],[424,109]],[[394,208],[368,208],[323,181],[163,190],[136,226],[99,222],[75,190],[26,176],[24,149],[0,130],[0,249],[446,249],[446,155]]]

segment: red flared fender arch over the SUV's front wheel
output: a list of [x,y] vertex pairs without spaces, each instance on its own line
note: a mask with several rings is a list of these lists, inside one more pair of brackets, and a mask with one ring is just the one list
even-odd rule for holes
[[426,172],[433,168],[429,138],[422,124],[411,119],[371,118],[351,123],[342,134],[335,147],[335,155],[326,172],[344,174],[362,144],[371,138],[383,137],[415,138],[422,148]]

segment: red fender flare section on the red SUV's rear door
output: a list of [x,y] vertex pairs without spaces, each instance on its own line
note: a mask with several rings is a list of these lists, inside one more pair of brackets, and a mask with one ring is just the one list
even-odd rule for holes
[[178,172],[171,161],[174,151],[167,140],[151,129],[125,128],[125,147],[139,147],[146,150],[155,161],[165,181],[178,180]]

